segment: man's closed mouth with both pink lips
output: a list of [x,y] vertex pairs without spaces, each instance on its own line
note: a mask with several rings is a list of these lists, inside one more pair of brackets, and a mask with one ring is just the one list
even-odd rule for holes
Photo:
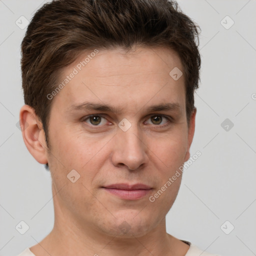
[[111,184],[107,186],[103,186],[105,191],[126,200],[137,200],[145,196],[147,193],[150,192],[152,187],[137,183],[137,184]]

